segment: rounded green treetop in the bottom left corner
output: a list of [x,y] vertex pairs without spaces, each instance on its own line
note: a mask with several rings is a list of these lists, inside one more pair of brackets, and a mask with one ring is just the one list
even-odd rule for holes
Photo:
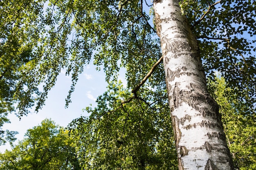
[[67,130],[45,119],[0,154],[0,170],[79,170],[73,144]]

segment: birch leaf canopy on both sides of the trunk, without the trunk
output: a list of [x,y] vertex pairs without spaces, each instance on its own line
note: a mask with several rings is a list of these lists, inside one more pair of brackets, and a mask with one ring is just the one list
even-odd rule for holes
[[[159,38],[153,26],[153,16],[148,15],[150,3],[147,1],[13,0],[1,3],[1,10],[10,14],[2,16],[8,18],[1,21],[2,28],[9,24],[5,27],[18,35],[21,47],[17,51],[32,50],[33,58],[22,67],[22,73],[26,73],[22,78],[26,81],[20,83],[26,86],[23,88],[26,95],[16,91],[17,96],[25,99],[19,102],[21,110],[30,106],[32,93],[39,84],[43,90],[36,110],[43,106],[61,69],[72,75],[69,94],[74,91],[79,73],[91,62],[99,66],[98,69],[104,69],[107,82],[117,79],[121,67],[126,68],[127,87],[132,89],[161,57]],[[207,75],[213,79],[213,72],[220,71],[229,86],[240,94],[238,97],[254,110],[255,1],[183,0],[180,6],[200,42]],[[11,32],[2,32],[3,42],[7,42],[7,35]],[[165,88],[163,77],[160,64],[148,79],[148,86]],[[70,102],[70,95],[66,102]]]

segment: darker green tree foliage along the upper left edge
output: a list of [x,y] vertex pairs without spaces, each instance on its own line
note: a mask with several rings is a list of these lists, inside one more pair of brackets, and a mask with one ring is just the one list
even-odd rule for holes
[[40,1],[0,1],[0,144],[15,140],[16,132],[2,130],[2,125],[9,123],[7,114],[17,111],[19,116],[26,115],[39,94],[37,80],[24,70],[35,59],[32,49],[38,30],[32,23],[42,8],[38,4]]

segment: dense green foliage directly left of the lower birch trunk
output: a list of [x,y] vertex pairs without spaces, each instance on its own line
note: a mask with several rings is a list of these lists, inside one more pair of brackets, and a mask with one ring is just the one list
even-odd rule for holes
[[144,96],[131,99],[121,84],[112,83],[108,88],[98,97],[96,108],[86,108],[90,117],[70,124],[83,169],[177,170],[171,117],[163,92],[144,89],[147,97],[159,97],[149,104]]

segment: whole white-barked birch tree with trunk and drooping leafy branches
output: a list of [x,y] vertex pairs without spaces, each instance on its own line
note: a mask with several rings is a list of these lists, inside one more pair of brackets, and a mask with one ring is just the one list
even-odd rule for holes
[[[157,106],[168,98],[180,169],[233,169],[204,70],[210,78],[216,70],[225,75],[248,106],[248,114],[255,113],[255,1],[155,0],[154,18],[147,12],[150,3],[143,0],[1,4],[1,9],[13,9],[13,16],[23,18],[23,24],[14,19],[11,25],[20,26],[18,32],[26,33],[23,44],[33,49],[35,57],[20,71],[26,73],[22,80],[29,80],[22,85],[29,94],[26,101],[33,96],[33,88],[43,85],[36,110],[43,106],[62,69],[72,76],[68,106],[86,64],[103,68],[109,84],[124,67],[131,95],[120,106],[135,99]],[[21,11],[25,15],[16,15]],[[151,95],[146,89],[153,89]],[[162,99],[165,89],[168,97]],[[103,108],[107,113],[114,111]]]

